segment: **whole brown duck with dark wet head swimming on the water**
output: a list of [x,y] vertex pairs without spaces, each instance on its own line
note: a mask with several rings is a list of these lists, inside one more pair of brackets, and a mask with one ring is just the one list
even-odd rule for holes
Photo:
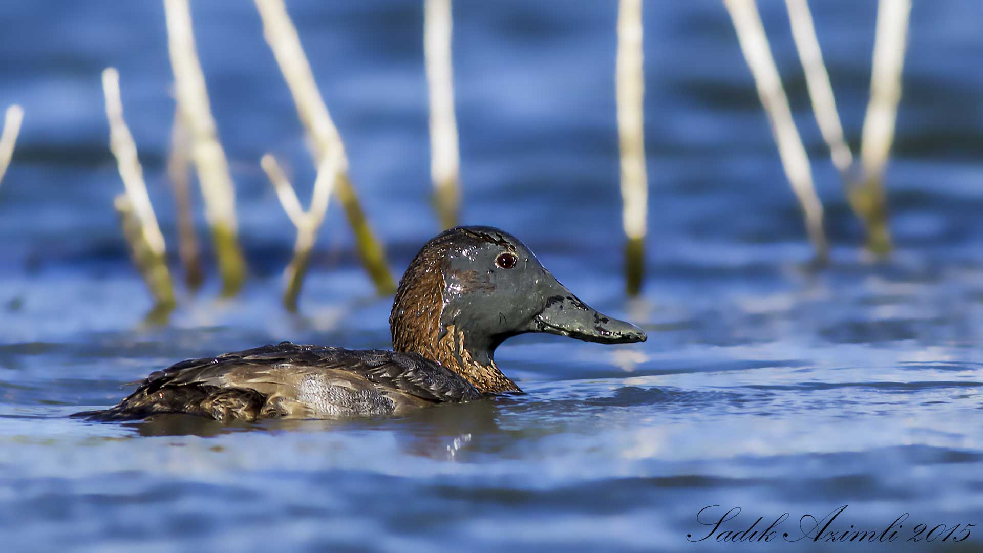
[[188,359],[131,383],[98,421],[183,413],[219,421],[403,415],[522,394],[494,361],[505,339],[546,333],[600,343],[645,341],[640,328],[581,301],[511,234],[458,226],[427,242],[402,276],[392,349],[290,341]]

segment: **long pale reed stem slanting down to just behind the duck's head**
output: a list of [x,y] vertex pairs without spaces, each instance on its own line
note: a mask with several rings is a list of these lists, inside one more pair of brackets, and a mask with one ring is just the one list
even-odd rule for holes
[[386,264],[382,243],[369,225],[348,176],[344,144],[318,91],[297,29],[282,0],[256,0],[256,6],[262,20],[263,36],[273,51],[283,79],[294,97],[298,116],[314,144],[316,164],[320,167],[326,158],[336,159],[332,161],[335,164],[334,189],[355,233],[356,249],[362,264],[375,282],[378,293],[392,293],[396,282]]

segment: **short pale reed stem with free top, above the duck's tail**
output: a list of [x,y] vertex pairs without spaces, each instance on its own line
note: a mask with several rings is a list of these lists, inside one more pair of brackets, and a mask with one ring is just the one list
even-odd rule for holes
[[126,190],[125,194],[116,197],[114,206],[120,215],[134,264],[144,277],[155,308],[167,310],[175,305],[175,301],[174,287],[167,271],[164,237],[146,193],[144,169],[137,154],[137,145],[123,118],[119,73],[116,69],[110,67],[102,72],[102,91],[106,98],[106,119],[109,121],[109,148],[116,156]]

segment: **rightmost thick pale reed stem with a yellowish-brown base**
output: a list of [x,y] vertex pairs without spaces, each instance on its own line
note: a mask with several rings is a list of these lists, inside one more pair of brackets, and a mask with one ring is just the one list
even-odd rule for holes
[[910,0],[881,0],[878,5],[870,101],[860,144],[863,177],[847,190],[850,206],[867,227],[867,247],[877,256],[887,255],[892,248],[884,169],[895,139],[910,13]]

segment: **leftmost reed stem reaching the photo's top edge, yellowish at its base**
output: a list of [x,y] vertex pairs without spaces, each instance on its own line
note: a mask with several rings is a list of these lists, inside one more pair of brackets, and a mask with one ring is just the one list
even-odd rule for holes
[[192,158],[202,186],[205,218],[211,226],[222,277],[222,295],[232,296],[246,279],[246,262],[236,237],[235,185],[211,115],[188,0],[164,0],[164,11],[178,111],[191,135]]

